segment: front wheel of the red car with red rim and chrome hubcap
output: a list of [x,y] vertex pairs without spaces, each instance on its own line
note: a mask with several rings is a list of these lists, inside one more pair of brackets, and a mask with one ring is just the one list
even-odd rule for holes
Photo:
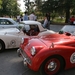
[[52,56],[46,59],[40,67],[41,75],[56,75],[64,68],[62,58]]

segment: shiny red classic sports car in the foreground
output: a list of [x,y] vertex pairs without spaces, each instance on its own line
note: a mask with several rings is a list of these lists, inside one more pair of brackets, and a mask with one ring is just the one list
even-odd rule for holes
[[41,75],[56,75],[75,67],[75,36],[55,33],[25,38],[17,52],[31,70],[40,71]]

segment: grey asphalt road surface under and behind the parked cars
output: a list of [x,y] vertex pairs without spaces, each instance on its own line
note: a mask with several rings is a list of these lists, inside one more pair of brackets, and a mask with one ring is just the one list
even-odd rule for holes
[[[62,26],[51,26],[51,29],[58,31]],[[40,75],[24,67],[22,58],[17,56],[17,49],[6,50],[0,53],[0,75]],[[75,75],[75,68],[61,72],[59,75]]]

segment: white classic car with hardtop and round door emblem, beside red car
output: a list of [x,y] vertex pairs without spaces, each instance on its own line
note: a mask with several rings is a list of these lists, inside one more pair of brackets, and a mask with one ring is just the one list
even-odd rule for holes
[[[4,49],[18,48],[23,38],[35,36],[39,37],[55,33],[52,30],[44,29],[41,23],[37,21],[22,21],[21,24],[24,24],[24,27],[21,30],[18,28],[7,28],[0,30],[0,51],[3,51]],[[37,27],[38,33],[33,35],[32,32],[30,32],[28,34],[30,27]]]

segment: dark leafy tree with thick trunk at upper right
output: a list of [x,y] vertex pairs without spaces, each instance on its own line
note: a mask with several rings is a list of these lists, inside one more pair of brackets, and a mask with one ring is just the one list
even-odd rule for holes
[[63,14],[66,16],[66,23],[68,23],[70,14],[74,12],[74,9],[75,0],[46,0],[41,6],[41,11],[43,12],[63,12]]

